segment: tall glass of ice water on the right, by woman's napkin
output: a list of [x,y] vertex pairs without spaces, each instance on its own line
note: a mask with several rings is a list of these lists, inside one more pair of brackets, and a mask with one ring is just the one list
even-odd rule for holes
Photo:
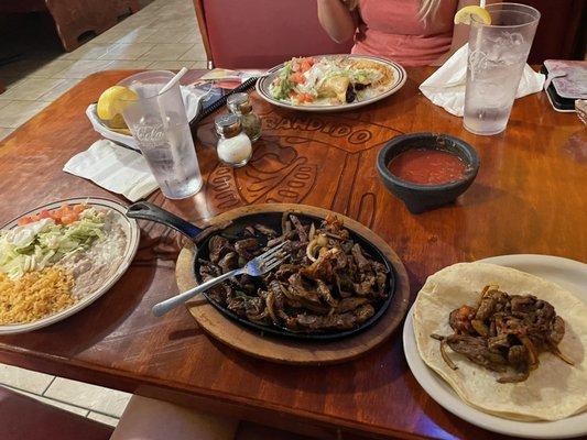
[[469,33],[465,129],[491,135],[506,130],[534,40],[540,12],[518,3],[486,7],[491,25],[472,20]]

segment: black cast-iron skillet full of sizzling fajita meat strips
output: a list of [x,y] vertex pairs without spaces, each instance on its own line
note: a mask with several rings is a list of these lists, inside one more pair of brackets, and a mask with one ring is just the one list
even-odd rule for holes
[[[269,274],[242,275],[203,294],[244,327],[294,340],[337,340],[373,326],[395,299],[390,260],[339,217],[320,218],[296,207],[285,212],[244,210],[204,231],[143,201],[131,205],[127,215],[194,239],[197,251],[188,271],[198,284],[285,243],[284,262]],[[400,307],[402,317],[405,309]]]

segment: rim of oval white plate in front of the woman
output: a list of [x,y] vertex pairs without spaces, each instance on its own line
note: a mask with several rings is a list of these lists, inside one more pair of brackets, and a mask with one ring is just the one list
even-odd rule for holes
[[273,79],[278,76],[278,73],[283,68],[283,64],[280,64],[279,66],[273,67],[268,72],[268,74],[257,81],[257,92],[261,98],[263,98],[265,101],[278,106],[283,107],[285,109],[293,109],[293,110],[301,110],[301,111],[319,111],[319,112],[327,112],[327,111],[346,111],[351,109],[357,109],[359,107],[369,106],[370,103],[380,101],[383,98],[389,97],[390,95],[395,94],[398,90],[402,88],[402,86],[405,84],[405,80],[407,79],[407,74],[405,73],[405,69],[400,66],[398,63],[394,63],[390,59],[379,58],[377,56],[370,56],[370,55],[318,55],[314,56],[314,58],[322,58],[325,56],[347,56],[349,58],[361,58],[361,59],[369,59],[376,63],[381,63],[385,67],[388,67],[391,72],[393,72],[393,84],[391,87],[382,92],[381,95],[378,95],[373,98],[366,99],[365,101],[360,102],[351,102],[351,103],[343,103],[337,106],[294,106],[289,102],[280,101],[279,99],[275,99],[271,96],[269,92],[269,86],[271,82],[273,82]]

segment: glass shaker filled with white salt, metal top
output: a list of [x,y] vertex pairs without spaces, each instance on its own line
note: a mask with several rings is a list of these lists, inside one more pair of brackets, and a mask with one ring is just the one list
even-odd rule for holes
[[240,118],[236,114],[222,114],[214,120],[218,133],[216,152],[225,164],[236,168],[247,165],[252,156],[251,140],[242,131]]

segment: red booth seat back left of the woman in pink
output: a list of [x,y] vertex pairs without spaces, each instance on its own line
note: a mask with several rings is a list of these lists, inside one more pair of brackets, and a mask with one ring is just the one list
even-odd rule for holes
[[210,67],[269,68],[293,56],[349,53],[322,29],[315,0],[194,0]]

